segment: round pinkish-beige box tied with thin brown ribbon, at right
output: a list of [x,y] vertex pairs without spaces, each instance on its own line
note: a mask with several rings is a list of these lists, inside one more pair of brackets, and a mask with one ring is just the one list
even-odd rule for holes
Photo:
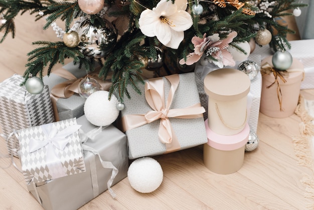
[[293,115],[298,103],[300,85],[304,78],[301,62],[293,58],[286,71],[273,68],[272,56],[262,60],[262,92],[260,112],[272,118],[286,118]]

